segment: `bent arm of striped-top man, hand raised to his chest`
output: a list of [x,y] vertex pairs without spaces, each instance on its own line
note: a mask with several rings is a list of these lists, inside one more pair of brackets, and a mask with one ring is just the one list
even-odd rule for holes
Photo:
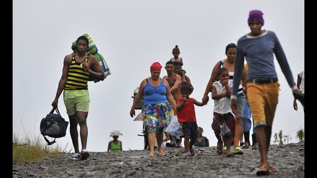
[[[89,69],[89,64],[91,66],[91,70]],[[82,65],[85,71],[88,72],[93,78],[101,81],[105,79],[105,74],[102,71],[100,64],[95,56],[90,55],[88,63],[85,61]]]

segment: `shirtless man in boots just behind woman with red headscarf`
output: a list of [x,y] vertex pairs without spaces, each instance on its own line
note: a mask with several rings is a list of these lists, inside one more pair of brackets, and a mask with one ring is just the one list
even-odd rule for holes
[[[174,97],[175,103],[177,98],[181,98],[182,95],[180,94],[180,86],[182,82],[182,78],[174,73],[174,63],[172,61],[167,61],[165,64],[165,69],[167,72],[167,75],[163,77],[168,84],[170,85],[170,91],[172,96]],[[176,115],[176,111],[173,108],[174,115]],[[170,135],[171,142],[166,143],[166,146],[168,147],[178,147],[181,148],[181,140],[176,139],[174,136]]]

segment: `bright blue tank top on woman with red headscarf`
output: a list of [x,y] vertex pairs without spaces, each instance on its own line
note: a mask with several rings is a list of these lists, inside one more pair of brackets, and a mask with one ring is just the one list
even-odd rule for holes
[[[151,77],[150,77],[151,79]],[[159,78],[161,81],[161,84],[157,87],[153,87],[150,85],[150,79],[146,83],[143,94],[144,94],[144,100],[143,104],[158,104],[158,103],[165,103],[167,102],[166,99],[166,86],[161,80],[161,77]]]

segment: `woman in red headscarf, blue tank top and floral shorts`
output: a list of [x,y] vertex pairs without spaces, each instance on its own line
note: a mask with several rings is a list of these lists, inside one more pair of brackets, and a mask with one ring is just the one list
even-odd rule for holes
[[[151,77],[143,79],[140,84],[139,92],[133,101],[130,116],[135,115],[135,106],[139,102],[142,95],[143,101],[143,120],[149,132],[149,147],[150,154],[148,157],[154,157],[155,133],[158,143],[158,156],[164,156],[161,144],[163,140],[163,129],[171,121],[174,116],[172,107],[176,109],[176,104],[173,96],[171,95],[170,86],[165,79],[159,77],[161,74],[162,65],[155,62],[151,65]],[[167,100],[169,102],[167,102]]]

